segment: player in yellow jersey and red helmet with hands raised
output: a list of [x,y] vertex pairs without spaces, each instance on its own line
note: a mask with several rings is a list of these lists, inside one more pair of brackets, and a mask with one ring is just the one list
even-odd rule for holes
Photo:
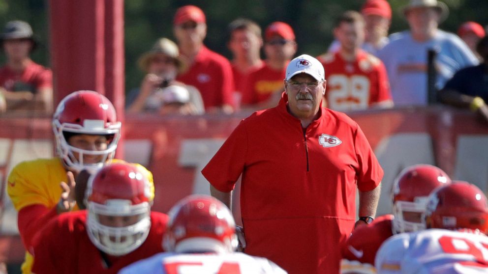
[[[23,273],[32,268],[32,243],[39,228],[81,206],[76,204],[79,189],[74,176],[82,169],[123,162],[113,159],[120,128],[115,108],[105,96],[88,90],[73,92],[61,100],[53,116],[57,157],[22,162],[10,171],[7,193],[19,212],[19,233],[27,250]],[[152,182],[151,172],[144,170]],[[149,191],[154,193],[153,186]]]

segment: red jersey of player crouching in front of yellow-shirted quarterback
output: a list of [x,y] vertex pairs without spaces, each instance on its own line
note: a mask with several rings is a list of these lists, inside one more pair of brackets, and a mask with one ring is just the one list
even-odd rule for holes
[[101,251],[91,243],[87,232],[87,212],[81,210],[61,214],[51,220],[42,230],[34,244],[34,266],[36,274],[116,274],[124,266],[162,252],[162,237],[166,230],[168,216],[151,213],[151,230],[144,243],[123,256],[105,256],[111,262],[107,268]]

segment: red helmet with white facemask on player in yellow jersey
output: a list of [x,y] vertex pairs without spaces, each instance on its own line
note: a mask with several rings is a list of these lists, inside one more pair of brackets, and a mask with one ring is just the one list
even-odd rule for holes
[[[74,171],[99,168],[114,157],[120,138],[121,123],[112,103],[103,95],[91,90],[80,90],[61,100],[53,117],[58,155]],[[74,134],[106,135],[110,143],[105,150],[85,150],[71,146],[68,138]],[[75,157],[73,152],[79,156]],[[84,163],[84,155],[102,155],[96,164]]]

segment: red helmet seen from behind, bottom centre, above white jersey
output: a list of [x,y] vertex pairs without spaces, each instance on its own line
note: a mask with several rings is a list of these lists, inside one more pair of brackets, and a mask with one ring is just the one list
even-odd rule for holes
[[166,251],[232,252],[237,247],[232,213],[219,200],[191,195],[169,212],[163,247]]

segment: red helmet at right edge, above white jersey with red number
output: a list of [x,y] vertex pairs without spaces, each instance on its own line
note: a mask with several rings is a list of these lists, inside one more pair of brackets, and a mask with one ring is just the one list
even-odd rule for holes
[[487,197],[475,185],[453,182],[430,194],[424,221],[427,228],[468,228],[487,233]]

